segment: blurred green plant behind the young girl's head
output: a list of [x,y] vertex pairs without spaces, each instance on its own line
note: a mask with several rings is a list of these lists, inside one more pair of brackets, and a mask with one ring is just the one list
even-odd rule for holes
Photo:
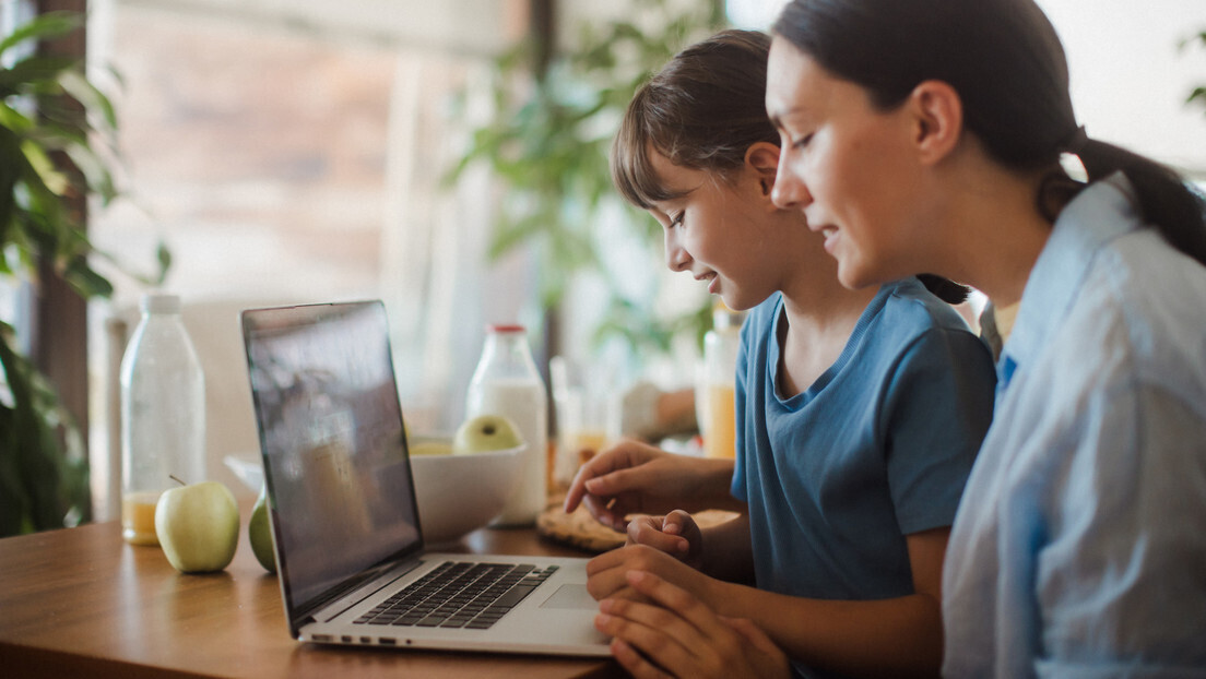
[[[639,19],[639,21],[638,21]],[[493,115],[473,130],[470,148],[450,174],[487,165],[505,187],[488,256],[531,247],[538,262],[541,303],[554,309],[570,280],[595,274],[609,291],[595,330],[621,336],[634,350],[666,352],[680,333],[702,338],[712,304],[677,317],[654,309],[655,294],[625,294],[603,265],[601,216],[620,212],[639,234],[650,262],[661,259],[661,233],[644,213],[622,207],[611,186],[608,151],[637,87],[678,49],[725,25],[722,4],[650,0],[639,17],[578,27],[573,47],[540,63],[525,41],[494,62]]]

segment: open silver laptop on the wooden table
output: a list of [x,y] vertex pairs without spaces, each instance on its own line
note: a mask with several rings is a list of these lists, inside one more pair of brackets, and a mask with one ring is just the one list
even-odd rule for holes
[[425,550],[381,302],[241,322],[294,639],[609,655],[586,558]]

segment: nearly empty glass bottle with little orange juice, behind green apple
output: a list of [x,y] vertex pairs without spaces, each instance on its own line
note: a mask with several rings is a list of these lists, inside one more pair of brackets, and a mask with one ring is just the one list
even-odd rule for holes
[[159,544],[154,508],[176,476],[205,476],[205,376],[180,318],[180,298],[150,293],[122,357],[122,535]]

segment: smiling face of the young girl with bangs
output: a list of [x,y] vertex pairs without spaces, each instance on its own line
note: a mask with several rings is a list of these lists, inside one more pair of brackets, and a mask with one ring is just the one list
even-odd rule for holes
[[763,252],[775,242],[769,216],[781,216],[762,189],[769,180],[749,166],[725,180],[674,165],[657,152],[651,160],[662,185],[681,194],[649,210],[662,224],[671,270],[690,271],[737,310],[756,306],[778,289],[774,265]]

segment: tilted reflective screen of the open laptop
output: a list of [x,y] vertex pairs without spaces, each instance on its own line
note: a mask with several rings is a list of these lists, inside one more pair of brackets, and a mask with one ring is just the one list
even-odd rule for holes
[[385,306],[253,309],[242,332],[293,617],[422,546]]

